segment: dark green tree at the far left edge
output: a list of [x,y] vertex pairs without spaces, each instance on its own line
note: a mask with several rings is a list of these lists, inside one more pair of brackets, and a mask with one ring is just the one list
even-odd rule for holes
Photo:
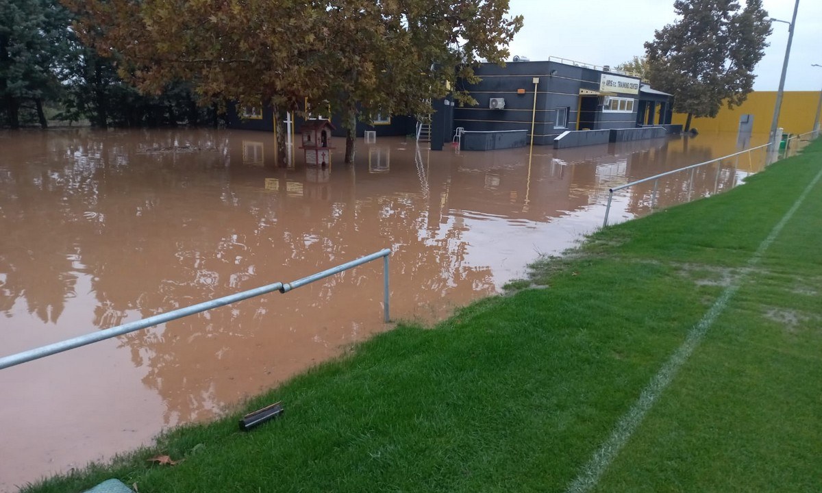
[[68,25],[68,12],[57,2],[0,0],[0,101],[9,127],[20,127],[25,104],[47,126],[43,103],[61,89],[71,53]]

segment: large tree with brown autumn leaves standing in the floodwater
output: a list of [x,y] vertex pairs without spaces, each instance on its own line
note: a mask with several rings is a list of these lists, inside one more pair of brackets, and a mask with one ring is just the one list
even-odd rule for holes
[[[431,113],[475,62],[503,62],[522,26],[508,0],[65,0],[86,44],[157,93],[190,81],[204,101],[270,104],[281,122],[305,98],[358,119]],[[467,93],[457,99],[472,102]],[[282,141],[282,139],[280,140]],[[284,143],[281,143],[284,147]]]

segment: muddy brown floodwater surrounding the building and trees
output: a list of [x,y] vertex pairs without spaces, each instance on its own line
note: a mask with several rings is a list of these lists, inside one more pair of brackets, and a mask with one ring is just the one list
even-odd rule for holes
[[[597,228],[608,187],[736,151],[736,136],[672,137],[537,147],[529,166],[524,149],[393,138],[359,141],[351,167],[307,168],[297,150],[276,168],[261,132],[0,133],[0,356],[385,247],[392,317],[431,322]],[[659,202],[733,187],[763,160],[669,177]],[[647,214],[652,189],[617,196],[612,222]],[[372,262],[0,371],[0,491],[214,417],[390,329],[381,289]]]

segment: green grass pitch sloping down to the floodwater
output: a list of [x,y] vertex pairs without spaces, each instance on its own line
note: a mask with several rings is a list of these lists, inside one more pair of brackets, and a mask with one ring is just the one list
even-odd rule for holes
[[543,288],[400,326],[248,403],[286,407],[254,431],[238,413],[30,491],[566,491],[737,285],[593,491],[822,491],[822,182],[756,253],[820,169],[817,142],[596,233],[533,266]]

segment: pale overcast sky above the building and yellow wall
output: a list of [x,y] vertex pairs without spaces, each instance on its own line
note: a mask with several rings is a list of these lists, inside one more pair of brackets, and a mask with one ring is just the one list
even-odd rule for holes
[[[770,16],[791,21],[794,0],[764,0]],[[615,66],[643,55],[653,31],[676,20],[673,0],[510,0],[510,13],[525,25],[510,44],[511,55],[548,56]],[[777,90],[787,45],[787,24],[774,22],[770,46],[756,67],[754,90]],[[820,90],[822,0],[800,0],[785,90]]]

